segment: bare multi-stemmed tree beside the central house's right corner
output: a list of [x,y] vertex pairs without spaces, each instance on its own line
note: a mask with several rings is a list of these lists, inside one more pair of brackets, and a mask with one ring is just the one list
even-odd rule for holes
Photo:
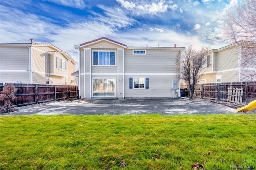
[[210,50],[210,47],[202,46],[201,49],[192,49],[190,45],[178,54],[177,65],[180,70],[180,77],[184,83],[188,85],[189,99],[193,99],[195,93],[195,87],[198,81],[202,78],[204,73],[204,66],[206,65],[206,54]]

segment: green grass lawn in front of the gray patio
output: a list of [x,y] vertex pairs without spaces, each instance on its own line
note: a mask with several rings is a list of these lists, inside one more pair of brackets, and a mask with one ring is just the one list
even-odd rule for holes
[[195,163],[255,168],[256,115],[0,117],[0,170],[189,170]]

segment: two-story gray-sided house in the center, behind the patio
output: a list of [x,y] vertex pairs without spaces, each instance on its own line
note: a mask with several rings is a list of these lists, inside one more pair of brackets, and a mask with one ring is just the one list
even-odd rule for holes
[[184,47],[127,47],[102,37],[75,48],[82,99],[176,97],[176,57]]

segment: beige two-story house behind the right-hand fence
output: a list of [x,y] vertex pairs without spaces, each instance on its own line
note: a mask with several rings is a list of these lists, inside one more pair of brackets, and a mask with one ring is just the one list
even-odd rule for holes
[[199,83],[255,81],[248,79],[248,75],[256,71],[256,66],[245,67],[242,64],[242,51],[237,43],[210,50],[206,55],[205,72]]

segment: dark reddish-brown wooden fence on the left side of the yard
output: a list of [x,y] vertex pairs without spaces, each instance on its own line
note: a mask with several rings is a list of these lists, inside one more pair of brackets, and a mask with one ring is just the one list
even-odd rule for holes
[[[0,83],[0,91],[8,83]],[[48,101],[74,100],[78,98],[78,87],[70,85],[39,85],[11,83],[18,88],[12,101],[14,106],[24,106]],[[0,107],[4,102],[0,101]]]

